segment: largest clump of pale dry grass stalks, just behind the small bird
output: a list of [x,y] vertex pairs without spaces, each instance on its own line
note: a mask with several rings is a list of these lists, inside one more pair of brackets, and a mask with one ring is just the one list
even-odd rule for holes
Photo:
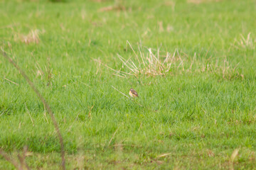
[[[134,48],[127,41],[127,45],[132,49],[133,55],[129,59],[124,59],[121,55],[117,54],[117,57],[122,62],[122,68],[112,69],[107,64],[104,64],[107,68],[114,71],[114,75],[119,77],[137,76],[144,74],[147,76],[163,76],[170,72],[171,69],[183,68],[183,60],[175,50],[173,54],[166,52],[160,52],[160,50],[152,50],[151,48],[143,48],[142,45],[138,45],[138,52],[135,52]],[[100,64],[100,60],[96,60]],[[127,71],[122,71],[124,67]]]

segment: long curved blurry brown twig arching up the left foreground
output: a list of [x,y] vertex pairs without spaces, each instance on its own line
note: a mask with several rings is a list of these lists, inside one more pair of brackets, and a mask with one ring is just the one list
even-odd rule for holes
[[[43,96],[40,94],[40,92],[38,91],[38,89],[36,89],[36,86],[32,83],[32,81],[28,78],[28,76],[25,74],[25,72],[23,72],[23,70],[18,67],[18,65],[14,62],[14,60],[11,59],[11,57],[9,57],[6,52],[4,52],[2,50],[1,52],[1,55],[4,56],[4,58],[6,58],[6,60],[8,60],[12,65],[14,65],[14,67],[16,67],[16,69],[18,69],[18,72],[21,73],[21,75],[26,79],[26,81],[28,82],[28,84],[31,86],[31,88],[33,89],[33,91],[35,91],[36,95],[38,96],[38,98],[40,98],[40,100],[43,102],[43,105],[46,106],[46,110],[48,111],[48,113],[50,114],[50,118],[53,120],[53,125],[54,125],[54,128],[55,130],[57,131],[57,134],[58,134],[58,138],[60,140],[60,149],[61,149],[61,166],[62,166],[62,169],[65,170],[65,150],[64,150],[64,144],[63,144],[63,137],[62,135],[60,134],[60,129],[58,127],[58,123],[53,115],[53,111],[51,111],[50,109],[50,106],[48,105],[47,101],[45,98],[43,98]],[[4,153],[4,152],[1,152],[0,150],[0,154],[1,153]],[[8,158],[8,157],[5,157],[5,158]],[[6,159],[8,160],[8,159]],[[10,161],[9,161],[10,162]]]

